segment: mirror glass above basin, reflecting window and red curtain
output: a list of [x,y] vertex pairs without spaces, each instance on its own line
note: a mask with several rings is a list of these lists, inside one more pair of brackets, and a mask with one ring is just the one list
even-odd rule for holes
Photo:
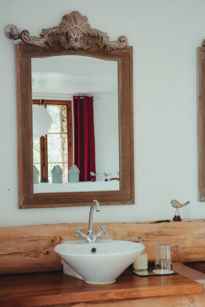
[[[77,55],[32,58],[33,133],[35,108],[44,105],[48,114],[41,116],[40,112],[37,115],[37,122],[42,120],[42,123],[37,123],[39,130],[46,124],[47,116],[52,118],[48,132],[44,134],[43,131],[41,137],[34,137],[34,193],[119,190],[119,181],[116,180],[119,172],[117,64],[117,61]],[[76,158],[73,105],[77,97],[82,104],[85,104],[84,97],[93,100],[93,119],[88,115],[88,126],[90,129],[93,121],[94,149],[90,150],[89,156],[94,154],[95,164],[85,171],[88,178],[79,182],[72,181],[72,172],[74,176],[78,171],[83,173],[83,166],[78,169],[80,162],[77,160],[85,160],[86,150],[80,148]],[[82,130],[80,135],[82,138]],[[73,169],[73,165],[77,169]]]

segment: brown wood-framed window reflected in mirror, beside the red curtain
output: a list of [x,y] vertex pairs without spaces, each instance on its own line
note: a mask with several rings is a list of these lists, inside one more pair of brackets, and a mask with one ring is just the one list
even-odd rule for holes
[[72,102],[65,100],[38,100],[44,104],[53,123],[45,137],[33,138],[33,160],[41,180],[52,182],[52,169],[60,165],[63,170],[62,182],[68,182],[68,171],[73,161]]

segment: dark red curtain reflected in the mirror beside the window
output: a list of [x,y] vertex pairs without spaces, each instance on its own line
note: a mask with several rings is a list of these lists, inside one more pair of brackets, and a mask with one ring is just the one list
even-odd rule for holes
[[77,165],[79,181],[91,181],[95,173],[95,136],[93,97],[73,96],[74,164]]

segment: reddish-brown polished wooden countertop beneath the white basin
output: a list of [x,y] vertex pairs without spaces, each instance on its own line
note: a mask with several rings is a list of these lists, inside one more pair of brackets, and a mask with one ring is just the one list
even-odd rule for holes
[[87,284],[63,272],[2,275],[0,281],[1,307],[203,293],[202,284],[180,274],[140,277],[128,270],[107,285]]

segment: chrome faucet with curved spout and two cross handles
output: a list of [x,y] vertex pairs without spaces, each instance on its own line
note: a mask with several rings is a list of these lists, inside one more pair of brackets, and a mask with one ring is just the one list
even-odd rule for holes
[[87,243],[94,243],[98,238],[100,238],[100,236],[104,233],[105,235],[108,235],[107,230],[101,226],[100,228],[102,229],[101,231],[98,231],[97,233],[93,232],[93,210],[94,207],[96,209],[96,211],[101,211],[100,210],[100,205],[99,202],[97,201],[97,199],[94,199],[91,207],[90,207],[90,215],[89,215],[89,230],[88,230],[88,234],[86,235],[84,232],[82,232],[81,230],[83,229],[82,227],[78,227],[74,233],[74,236],[78,236],[80,235],[83,239],[85,239],[85,241]]

